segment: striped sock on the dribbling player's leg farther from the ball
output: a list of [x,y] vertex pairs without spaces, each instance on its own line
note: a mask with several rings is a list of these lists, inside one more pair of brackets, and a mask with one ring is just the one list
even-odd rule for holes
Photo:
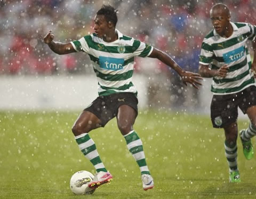
[[150,175],[150,172],[148,170],[148,166],[146,163],[146,159],[145,159],[145,154],[143,151],[142,142],[139,136],[137,135],[137,133],[134,130],[132,130],[131,132],[129,132],[129,134],[126,134],[124,138],[126,140],[127,148],[129,149],[132,156],[137,161],[140,167],[141,175],[142,174]]

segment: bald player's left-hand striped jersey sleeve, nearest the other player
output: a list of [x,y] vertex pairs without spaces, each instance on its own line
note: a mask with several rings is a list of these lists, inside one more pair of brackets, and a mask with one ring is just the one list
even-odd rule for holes
[[200,53],[200,64],[209,65],[213,59],[213,49],[212,46],[207,43],[207,39],[203,40],[201,46],[201,53]]

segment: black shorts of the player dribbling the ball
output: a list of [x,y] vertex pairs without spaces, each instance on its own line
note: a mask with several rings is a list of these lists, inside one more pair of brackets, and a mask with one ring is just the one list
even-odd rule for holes
[[101,120],[104,127],[109,120],[116,117],[121,105],[132,107],[138,115],[138,98],[133,93],[115,93],[97,97],[84,111],[89,111]]

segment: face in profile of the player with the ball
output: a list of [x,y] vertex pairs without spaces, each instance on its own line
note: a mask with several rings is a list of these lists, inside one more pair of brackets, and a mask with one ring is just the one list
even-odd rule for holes
[[107,32],[109,31],[109,24],[106,21],[104,15],[95,15],[93,29],[99,38],[107,36]]

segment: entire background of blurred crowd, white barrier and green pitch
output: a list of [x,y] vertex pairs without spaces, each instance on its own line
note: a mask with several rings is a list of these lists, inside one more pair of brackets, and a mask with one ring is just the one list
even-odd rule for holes
[[[196,72],[201,42],[212,27],[209,11],[218,2],[230,7],[233,21],[256,24],[254,0],[1,0],[0,198],[84,198],[70,192],[69,179],[79,170],[95,173],[71,133],[78,114],[97,96],[89,56],[52,53],[43,43],[47,31],[60,42],[81,38],[93,31],[102,3],[110,3],[119,10],[119,30]],[[155,187],[142,189],[137,163],[114,119],[90,134],[114,176],[91,197],[255,198],[256,159],[245,160],[239,141],[242,183],[228,183],[224,134],[212,128],[209,116],[211,79],[198,91],[183,87],[172,70],[147,58],[136,59],[134,84],[140,106],[134,129]],[[248,125],[238,120],[239,129]]]

